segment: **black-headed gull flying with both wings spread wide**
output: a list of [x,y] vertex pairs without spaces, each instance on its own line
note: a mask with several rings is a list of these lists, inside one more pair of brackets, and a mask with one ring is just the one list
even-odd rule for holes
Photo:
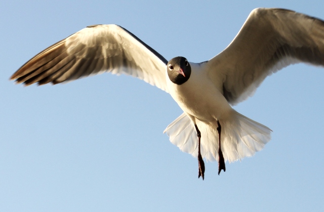
[[183,114],[166,132],[172,144],[198,159],[225,162],[253,156],[271,129],[232,106],[252,96],[262,81],[293,63],[324,66],[324,21],[286,9],[254,9],[221,53],[200,63],[170,61],[118,25],[88,26],[48,47],[11,80],[58,84],[104,72],[131,75],[171,94]]

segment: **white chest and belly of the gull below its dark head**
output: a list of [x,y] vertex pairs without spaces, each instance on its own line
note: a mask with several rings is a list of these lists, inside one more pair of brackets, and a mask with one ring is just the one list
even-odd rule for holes
[[191,66],[191,75],[187,82],[177,85],[167,76],[167,85],[171,96],[180,108],[200,121],[219,119],[230,105],[212,81],[199,70]]

